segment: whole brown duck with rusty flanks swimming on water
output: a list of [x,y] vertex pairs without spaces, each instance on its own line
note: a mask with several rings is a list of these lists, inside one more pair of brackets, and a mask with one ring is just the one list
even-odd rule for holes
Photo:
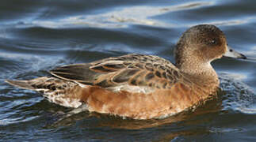
[[220,81],[213,60],[246,59],[227,45],[212,24],[187,29],[174,50],[175,64],[147,54],[126,54],[95,62],[57,66],[49,77],[6,80],[40,92],[63,107],[132,119],[159,119],[202,105],[216,95]]

